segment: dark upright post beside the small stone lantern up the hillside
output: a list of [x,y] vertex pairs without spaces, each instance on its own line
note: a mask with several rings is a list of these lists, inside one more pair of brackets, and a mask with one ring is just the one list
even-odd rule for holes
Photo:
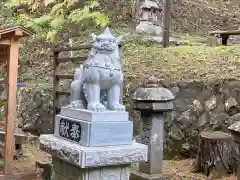
[[163,9],[163,47],[166,48],[169,46],[169,26],[171,18],[171,0],[164,0],[164,9]]

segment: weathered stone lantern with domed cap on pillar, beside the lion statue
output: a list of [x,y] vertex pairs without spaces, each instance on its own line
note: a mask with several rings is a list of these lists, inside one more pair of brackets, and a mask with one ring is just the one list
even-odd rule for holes
[[172,111],[174,96],[152,78],[136,90],[133,100],[134,109],[141,113],[140,141],[148,145],[148,161],[140,162],[139,172],[133,172],[131,180],[157,180],[163,171],[164,112]]

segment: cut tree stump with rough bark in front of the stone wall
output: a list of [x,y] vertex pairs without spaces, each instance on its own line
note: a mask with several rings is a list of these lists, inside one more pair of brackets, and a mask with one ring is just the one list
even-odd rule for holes
[[200,134],[195,172],[220,178],[236,173],[239,169],[239,145],[230,134],[220,131]]

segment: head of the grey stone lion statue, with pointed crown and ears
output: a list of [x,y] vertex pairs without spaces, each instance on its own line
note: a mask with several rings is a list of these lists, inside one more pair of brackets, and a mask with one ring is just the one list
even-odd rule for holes
[[122,41],[122,37],[112,35],[109,28],[106,28],[100,35],[92,34],[93,47],[100,51],[115,51]]

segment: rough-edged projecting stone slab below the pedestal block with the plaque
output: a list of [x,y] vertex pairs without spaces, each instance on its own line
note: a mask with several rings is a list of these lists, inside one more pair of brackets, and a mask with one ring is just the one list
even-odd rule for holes
[[147,161],[147,146],[139,143],[84,147],[54,135],[41,135],[40,149],[81,168]]

